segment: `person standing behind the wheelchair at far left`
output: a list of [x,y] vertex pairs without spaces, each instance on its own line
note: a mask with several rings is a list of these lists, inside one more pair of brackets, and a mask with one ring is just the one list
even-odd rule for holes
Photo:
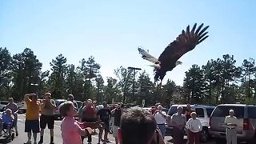
[[8,98],[9,103],[6,105],[6,109],[10,109],[12,111],[12,114],[14,115],[14,129],[16,136],[18,136],[18,106],[16,103],[14,103],[14,98]]

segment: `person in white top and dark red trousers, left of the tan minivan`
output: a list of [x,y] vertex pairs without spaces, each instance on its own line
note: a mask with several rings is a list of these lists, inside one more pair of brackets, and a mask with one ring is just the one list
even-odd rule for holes
[[191,117],[188,122],[186,122],[186,127],[189,130],[188,144],[198,144],[200,140],[200,131],[202,131],[202,123],[197,118],[195,112],[191,113]]

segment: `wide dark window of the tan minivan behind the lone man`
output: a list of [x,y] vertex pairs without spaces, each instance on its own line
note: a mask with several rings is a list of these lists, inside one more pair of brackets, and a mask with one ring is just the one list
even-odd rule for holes
[[226,117],[231,109],[234,110],[234,116],[244,118],[244,106],[217,106],[212,116]]

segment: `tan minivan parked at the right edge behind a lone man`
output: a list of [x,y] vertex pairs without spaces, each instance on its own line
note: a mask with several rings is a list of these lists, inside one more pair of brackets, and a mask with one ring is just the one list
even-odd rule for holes
[[229,110],[234,110],[238,118],[237,137],[240,142],[256,143],[256,106],[246,104],[222,104],[218,105],[210,117],[210,135],[218,143],[226,140],[225,117]]

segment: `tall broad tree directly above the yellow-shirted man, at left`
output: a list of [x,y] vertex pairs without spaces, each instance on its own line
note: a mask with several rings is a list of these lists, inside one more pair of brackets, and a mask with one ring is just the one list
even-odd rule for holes
[[21,54],[14,54],[11,61],[13,76],[13,95],[17,95],[17,100],[22,100],[23,94],[30,92],[38,93],[39,74],[41,73],[42,63],[29,48]]

